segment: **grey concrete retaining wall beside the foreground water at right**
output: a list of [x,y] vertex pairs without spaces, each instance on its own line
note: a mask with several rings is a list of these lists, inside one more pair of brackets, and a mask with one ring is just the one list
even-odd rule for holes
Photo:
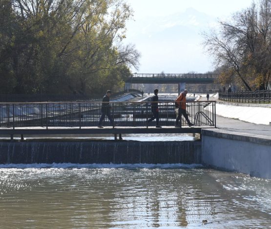
[[203,130],[202,164],[271,179],[271,137]]

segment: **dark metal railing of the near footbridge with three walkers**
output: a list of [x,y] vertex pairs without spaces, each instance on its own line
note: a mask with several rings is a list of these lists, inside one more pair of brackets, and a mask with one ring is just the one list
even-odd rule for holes
[[[152,116],[151,102],[109,102],[114,125],[127,127],[155,126],[155,120],[147,124]],[[97,126],[101,117],[102,102],[44,102],[44,103],[0,103],[0,127],[91,127]],[[160,125],[174,126],[178,109],[174,101],[158,102]],[[188,101],[189,119],[198,127],[215,127],[215,101]],[[109,126],[105,117],[104,126]],[[186,121],[181,121],[187,126]]]

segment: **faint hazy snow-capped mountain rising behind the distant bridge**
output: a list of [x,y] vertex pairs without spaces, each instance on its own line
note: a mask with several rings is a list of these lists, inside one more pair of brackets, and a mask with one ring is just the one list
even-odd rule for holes
[[211,70],[211,60],[203,54],[201,33],[217,24],[216,18],[188,8],[128,22],[125,42],[135,44],[142,54],[137,72],[204,73]]

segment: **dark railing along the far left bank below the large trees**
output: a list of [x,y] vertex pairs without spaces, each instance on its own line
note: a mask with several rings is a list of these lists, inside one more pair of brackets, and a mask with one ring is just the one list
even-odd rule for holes
[[[120,91],[112,94],[111,98],[116,98],[127,93],[141,94],[142,92],[137,89],[129,89]],[[104,93],[105,94],[105,93]],[[82,95],[82,94],[31,94],[31,95],[20,95],[20,94],[0,94],[0,102],[46,102],[46,101],[82,101],[82,100],[100,100],[104,94],[101,95]]]

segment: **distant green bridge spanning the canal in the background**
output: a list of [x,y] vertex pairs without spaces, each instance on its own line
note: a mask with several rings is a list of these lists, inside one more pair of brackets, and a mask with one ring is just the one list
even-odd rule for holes
[[149,83],[149,84],[169,84],[178,83],[179,92],[185,89],[186,83],[214,83],[218,74],[132,74],[125,81],[125,89],[131,89],[133,83]]

